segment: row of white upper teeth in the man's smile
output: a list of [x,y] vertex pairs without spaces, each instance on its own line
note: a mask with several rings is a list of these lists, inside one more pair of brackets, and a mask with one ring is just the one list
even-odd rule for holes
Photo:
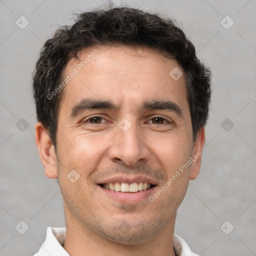
[[134,183],[106,183],[103,187],[117,192],[137,192],[138,190],[146,190],[150,187],[150,183],[147,182],[134,182]]

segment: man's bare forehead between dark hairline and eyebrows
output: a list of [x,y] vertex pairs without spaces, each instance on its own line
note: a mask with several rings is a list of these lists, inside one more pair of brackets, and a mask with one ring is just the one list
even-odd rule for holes
[[187,105],[184,75],[176,79],[175,74],[182,74],[178,63],[152,49],[95,45],[82,50],[78,60],[72,58],[67,63],[63,79],[69,79],[60,107],[73,105],[83,97],[134,105],[154,98],[175,99]]

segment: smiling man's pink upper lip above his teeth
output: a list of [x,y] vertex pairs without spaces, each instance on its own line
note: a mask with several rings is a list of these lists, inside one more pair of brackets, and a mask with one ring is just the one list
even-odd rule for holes
[[127,175],[118,175],[118,176],[112,176],[108,177],[104,180],[101,180],[98,182],[98,184],[106,184],[106,183],[114,183],[114,182],[119,182],[119,183],[134,183],[134,182],[146,182],[150,183],[152,185],[156,185],[156,181],[147,177],[147,176],[142,176],[142,175],[134,175],[134,176],[127,176]]

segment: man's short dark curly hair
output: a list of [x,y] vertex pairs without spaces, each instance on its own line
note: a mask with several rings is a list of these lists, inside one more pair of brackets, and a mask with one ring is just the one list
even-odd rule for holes
[[62,26],[43,45],[33,72],[37,119],[56,148],[58,106],[63,94],[47,97],[61,82],[67,62],[93,45],[130,45],[151,48],[175,59],[184,71],[193,140],[208,117],[210,70],[195,55],[193,44],[169,18],[128,7],[83,12],[72,26]]

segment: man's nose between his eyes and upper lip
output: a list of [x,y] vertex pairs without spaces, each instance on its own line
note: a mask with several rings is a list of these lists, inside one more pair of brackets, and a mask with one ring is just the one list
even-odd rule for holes
[[131,125],[128,130],[124,131],[117,126],[116,131],[117,134],[113,137],[108,150],[108,157],[111,161],[126,165],[148,161],[150,150],[139,127]]

